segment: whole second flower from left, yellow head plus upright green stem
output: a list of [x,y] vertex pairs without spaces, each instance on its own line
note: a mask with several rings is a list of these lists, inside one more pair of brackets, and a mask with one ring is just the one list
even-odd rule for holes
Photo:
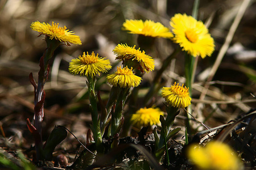
[[92,52],[92,54],[84,52],[82,56],[72,59],[68,68],[71,74],[80,74],[81,76],[83,75],[87,78],[86,85],[88,87],[90,101],[89,107],[92,116],[91,128],[98,152],[103,152],[102,135],[104,134],[104,129],[106,126],[105,124],[108,119],[106,114],[108,113],[102,115],[103,117],[106,117],[102,118],[103,122],[101,122],[100,114],[98,113],[97,108],[97,95],[95,91],[96,75],[100,75],[100,73],[106,73],[111,68],[112,66],[110,65],[109,59],[98,57],[98,54],[96,55],[94,52]]

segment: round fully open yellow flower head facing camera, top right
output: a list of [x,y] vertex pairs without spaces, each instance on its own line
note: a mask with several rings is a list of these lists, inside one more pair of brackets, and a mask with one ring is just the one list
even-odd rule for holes
[[175,14],[170,25],[174,33],[174,42],[193,57],[211,56],[214,51],[214,40],[203,22],[186,14]]

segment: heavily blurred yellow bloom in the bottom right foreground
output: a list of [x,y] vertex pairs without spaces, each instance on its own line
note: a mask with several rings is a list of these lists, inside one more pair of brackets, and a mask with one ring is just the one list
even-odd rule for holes
[[242,169],[241,160],[225,143],[209,142],[205,147],[191,145],[188,158],[200,169],[238,170]]

